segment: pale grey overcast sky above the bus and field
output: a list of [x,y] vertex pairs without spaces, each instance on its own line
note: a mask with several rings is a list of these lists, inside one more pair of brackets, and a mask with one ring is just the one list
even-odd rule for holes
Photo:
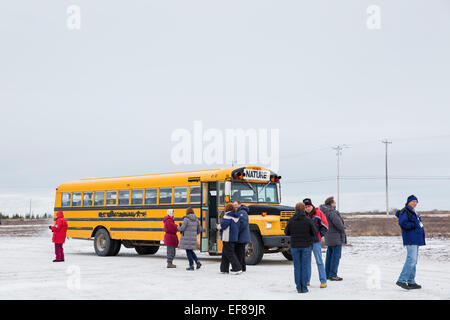
[[391,207],[450,209],[449,31],[445,0],[2,1],[0,212],[51,212],[65,181],[217,167],[171,160],[196,120],[279,129],[284,203],[336,195],[348,144],[341,211],[384,210],[387,138]]

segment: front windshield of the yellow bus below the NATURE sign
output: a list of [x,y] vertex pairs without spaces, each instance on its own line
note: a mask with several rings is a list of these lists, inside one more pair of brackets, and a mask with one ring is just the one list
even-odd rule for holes
[[278,203],[278,192],[275,184],[233,182],[231,195],[233,201]]

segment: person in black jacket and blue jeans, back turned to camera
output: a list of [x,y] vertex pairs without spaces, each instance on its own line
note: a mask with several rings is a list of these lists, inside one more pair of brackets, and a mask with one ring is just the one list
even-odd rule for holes
[[284,233],[291,237],[291,255],[297,292],[308,292],[306,284],[311,274],[312,246],[318,236],[313,221],[305,214],[303,202],[296,204],[295,214],[289,219]]

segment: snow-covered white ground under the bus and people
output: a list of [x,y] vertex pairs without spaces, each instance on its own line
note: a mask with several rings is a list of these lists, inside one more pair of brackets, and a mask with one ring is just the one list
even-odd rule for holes
[[450,299],[450,239],[427,239],[420,248],[416,280],[423,288],[410,291],[395,285],[406,251],[400,237],[351,237],[349,244],[343,281],[320,289],[313,258],[310,292],[298,294],[293,265],[281,254],[265,255],[242,275],[223,275],[220,257],[208,254],[198,254],[203,266],[189,272],[182,250],[177,268],[167,269],[164,247],[138,256],[122,246],[118,256],[98,257],[92,241],[68,239],[66,262],[53,263],[45,226],[32,236],[0,232],[0,299]]

